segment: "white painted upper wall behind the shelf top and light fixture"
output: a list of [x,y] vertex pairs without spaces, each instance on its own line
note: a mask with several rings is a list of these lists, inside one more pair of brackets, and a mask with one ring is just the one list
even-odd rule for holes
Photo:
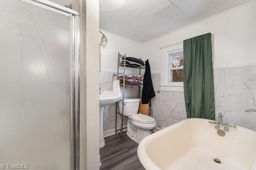
[[[142,57],[142,43],[138,43],[126,38],[105,32],[102,32],[108,38],[108,43],[106,45],[101,45],[101,59],[100,59],[100,70],[116,72],[117,71],[117,61],[118,52],[127,57]],[[100,34],[99,38],[101,38]],[[144,58],[142,57],[144,60]]]

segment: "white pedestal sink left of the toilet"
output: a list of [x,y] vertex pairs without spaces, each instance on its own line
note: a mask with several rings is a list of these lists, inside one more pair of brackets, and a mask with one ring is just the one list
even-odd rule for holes
[[103,112],[104,107],[119,101],[118,93],[114,91],[100,91],[100,148],[105,146],[105,139],[103,135]]

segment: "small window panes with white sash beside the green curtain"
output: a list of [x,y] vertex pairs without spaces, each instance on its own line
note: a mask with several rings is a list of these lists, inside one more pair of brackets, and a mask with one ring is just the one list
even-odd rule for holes
[[169,54],[169,84],[183,82],[183,52]]

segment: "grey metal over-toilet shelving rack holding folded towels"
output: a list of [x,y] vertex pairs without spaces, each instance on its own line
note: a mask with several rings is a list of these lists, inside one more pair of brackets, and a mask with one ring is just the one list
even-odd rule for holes
[[[122,63],[123,62],[123,63]],[[119,73],[119,67],[123,67],[123,71],[122,73]],[[126,64],[126,54],[124,55],[121,55],[119,52],[118,52],[118,66],[117,66],[117,76],[119,78],[120,75],[123,75],[124,77],[124,80],[123,80],[123,84],[120,84],[120,86],[122,86],[123,88],[123,95],[122,95],[122,108],[124,108],[124,99],[125,99],[125,94],[124,94],[124,88],[125,87],[141,87],[141,86],[136,86],[136,85],[125,85],[125,74],[126,74],[126,67],[130,67],[130,68],[135,68],[135,69],[139,69],[140,70],[140,73],[141,74],[141,69],[145,69],[146,67],[145,66],[135,66],[135,65],[130,65],[130,64]],[[140,88],[138,90],[138,97],[140,97]],[[124,125],[124,109],[122,109],[122,113],[119,113],[117,111],[117,107],[118,107],[118,104],[119,102],[116,103],[116,133],[119,133],[119,134],[122,134],[123,133],[123,125]],[[119,109],[120,111],[120,109]],[[120,126],[120,129],[117,129],[117,114],[121,115],[122,116],[122,122],[121,122],[121,126]]]

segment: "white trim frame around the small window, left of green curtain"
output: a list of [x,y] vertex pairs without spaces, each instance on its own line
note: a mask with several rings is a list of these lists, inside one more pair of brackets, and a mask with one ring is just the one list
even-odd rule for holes
[[160,74],[160,90],[161,91],[178,91],[184,92],[183,82],[170,82],[170,54],[183,52],[183,42],[176,43],[169,47],[165,47],[161,51],[161,74]]

